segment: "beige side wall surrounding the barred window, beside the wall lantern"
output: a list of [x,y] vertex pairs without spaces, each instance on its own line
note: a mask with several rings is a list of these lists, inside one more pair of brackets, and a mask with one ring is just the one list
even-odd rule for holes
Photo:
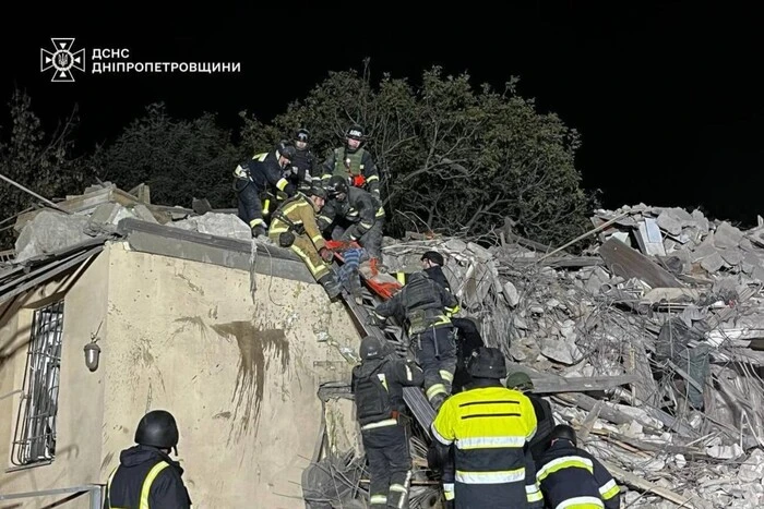
[[[83,347],[91,335],[107,331],[108,257],[62,275],[22,295],[0,315],[0,493],[24,493],[103,482],[102,434],[104,375],[85,366]],[[63,299],[61,371],[56,425],[56,458],[49,464],[10,470],[21,389],[24,384],[34,312]],[[100,328],[99,328],[100,327]],[[100,341],[99,341],[100,343]],[[10,395],[10,396],[9,396]],[[58,496],[61,500],[64,496]],[[9,500],[0,508],[52,507],[52,498]],[[21,505],[20,505],[21,504]],[[86,497],[56,507],[79,508]]]

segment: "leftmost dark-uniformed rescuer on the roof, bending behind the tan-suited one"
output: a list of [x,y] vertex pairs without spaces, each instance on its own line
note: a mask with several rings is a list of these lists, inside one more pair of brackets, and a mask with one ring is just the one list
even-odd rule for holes
[[[283,171],[295,158],[295,147],[279,142],[273,152],[255,154],[252,159],[234,170],[234,190],[239,202],[239,218],[252,229],[252,237],[266,233],[263,214],[270,213],[270,204],[263,206],[268,193],[286,193],[291,197],[297,189],[284,177]],[[274,189],[277,190],[274,192]]]

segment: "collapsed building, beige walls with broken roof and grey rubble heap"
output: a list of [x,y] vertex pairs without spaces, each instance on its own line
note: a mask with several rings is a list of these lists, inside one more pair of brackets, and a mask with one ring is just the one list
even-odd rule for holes
[[[163,405],[194,504],[365,507],[347,390],[362,325],[346,305],[229,210],[109,183],[58,206],[16,219],[0,266],[0,507],[103,484],[140,415]],[[441,252],[463,313],[629,507],[762,506],[764,221],[741,231],[643,205],[592,221],[577,256],[508,221],[482,245],[385,239],[385,265],[413,271]],[[438,504],[427,440],[415,429],[413,507]]]

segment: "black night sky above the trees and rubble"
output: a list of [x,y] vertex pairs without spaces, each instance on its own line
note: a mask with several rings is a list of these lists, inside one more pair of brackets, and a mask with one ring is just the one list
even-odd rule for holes
[[[174,11],[130,2],[123,11],[80,12],[29,5],[15,15],[26,20],[23,34],[1,36],[0,95],[5,102],[14,85],[26,88],[34,110],[50,122],[77,102],[87,149],[112,140],[157,100],[177,117],[216,111],[234,129],[242,109],[267,120],[330,70],[358,69],[365,57],[372,71],[396,77],[416,78],[432,64],[497,87],[517,75],[522,95],[581,132],[576,165],[587,189],[602,190],[606,207],[702,206],[743,226],[764,215],[764,31],[755,8],[505,3],[290,2],[277,10],[248,2],[194,10],[187,2]],[[361,17],[348,19],[354,14]],[[134,62],[241,62],[241,72],[80,73],[75,83],[50,83],[39,72],[50,37],[75,37],[88,60],[89,48],[128,48]]]

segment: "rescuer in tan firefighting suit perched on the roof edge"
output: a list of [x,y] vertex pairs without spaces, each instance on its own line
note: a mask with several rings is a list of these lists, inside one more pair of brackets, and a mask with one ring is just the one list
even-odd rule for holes
[[326,290],[330,299],[342,292],[342,284],[329,265],[334,253],[326,247],[315,215],[323,208],[326,192],[311,187],[297,193],[273,213],[268,238],[282,247],[289,247],[302,258],[310,274]]

